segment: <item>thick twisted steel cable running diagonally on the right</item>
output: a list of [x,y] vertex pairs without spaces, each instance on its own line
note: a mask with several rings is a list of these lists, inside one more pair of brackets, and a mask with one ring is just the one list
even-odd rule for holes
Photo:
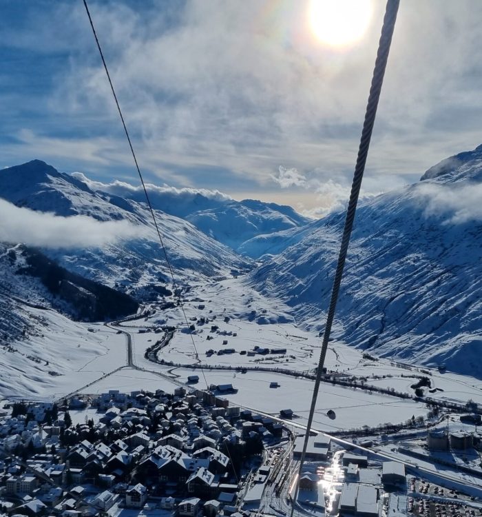
[[380,98],[381,85],[384,82],[384,74],[386,63],[388,60],[388,53],[390,52],[390,44],[392,42],[393,30],[395,29],[395,21],[397,20],[397,12],[400,0],[388,0],[386,4],[386,12],[384,23],[381,28],[381,37],[378,46],[377,59],[375,61],[375,68],[373,70],[373,79],[370,86],[370,94],[368,95],[368,103],[366,105],[365,121],[362,130],[362,138],[357,156],[357,163],[355,165],[355,172],[353,174],[353,183],[350,193],[350,201],[348,209],[346,210],[346,219],[342,236],[342,245],[339,250],[337,269],[335,278],[333,280],[333,290],[331,292],[331,301],[328,308],[328,315],[326,316],[326,325],[323,336],[322,350],[319,354],[319,362],[317,368],[317,375],[315,387],[313,388],[313,398],[311,399],[310,413],[308,416],[308,424],[306,425],[306,434],[304,436],[304,443],[302,455],[300,459],[300,469],[298,471],[295,494],[292,501],[291,516],[295,509],[295,502],[297,500],[300,477],[302,476],[302,469],[304,465],[304,458],[306,456],[306,447],[311,432],[311,425],[313,423],[313,416],[315,414],[315,406],[318,396],[319,383],[321,382],[322,372],[324,368],[324,361],[326,357],[326,350],[328,349],[328,341],[331,334],[331,326],[333,318],[335,317],[335,309],[337,305],[339,287],[342,283],[342,276],[344,265],[346,261],[346,254],[348,251],[348,244],[350,243],[351,231],[353,228],[353,221],[355,220],[355,212],[357,210],[358,196],[360,187],[362,186],[363,174],[365,171],[366,157],[368,156],[368,148],[370,148],[370,139],[373,132],[373,124],[375,123],[375,116],[377,115],[378,101]]

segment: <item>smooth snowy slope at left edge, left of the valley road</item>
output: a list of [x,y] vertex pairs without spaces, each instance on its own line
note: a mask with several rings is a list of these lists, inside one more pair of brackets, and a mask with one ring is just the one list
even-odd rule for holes
[[2,397],[58,398],[125,365],[125,336],[54,311],[28,310],[39,332],[14,343],[15,352],[0,349]]

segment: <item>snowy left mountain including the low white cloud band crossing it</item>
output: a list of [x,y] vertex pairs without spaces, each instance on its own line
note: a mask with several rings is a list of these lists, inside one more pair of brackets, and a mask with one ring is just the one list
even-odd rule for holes
[[[23,240],[19,241],[40,245],[50,259],[67,270],[125,288],[170,282],[167,261],[145,203],[94,192],[70,174],[38,160],[1,170],[0,196],[14,204],[10,211],[15,216],[18,207],[38,214],[28,217],[28,225],[21,225]],[[8,216],[8,205],[0,205],[0,210],[8,221],[3,232],[10,228],[8,240],[16,242],[18,218]],[[251,266],[249,260],[188,221],[160,210],[156,210],[156,221],[178,278],[222,276]],[[45,225],[50,231],[39,243]],[[81,233],[85,225],[90,235]],[[94,242],[92,234],[96,234]]]

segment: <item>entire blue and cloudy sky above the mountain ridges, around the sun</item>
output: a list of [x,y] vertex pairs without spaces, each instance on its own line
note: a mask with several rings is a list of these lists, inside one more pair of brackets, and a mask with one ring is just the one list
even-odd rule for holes
[[[322,216],[348,198],[385,4],[333,46],[302,0],[90,0],[141,170]],[[362,196],[482,143],[482,2],[401,0]],[[350,29],[351,30],[351,29]],[[138,178],[81,0],[0,0],[0,168]]]

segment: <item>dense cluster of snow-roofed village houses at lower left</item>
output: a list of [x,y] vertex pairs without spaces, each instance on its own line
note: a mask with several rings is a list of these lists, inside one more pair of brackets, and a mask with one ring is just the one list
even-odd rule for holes
[[[73,424],[74,409],[87,403],[97,412]],[[26,516],[96,516],[114,505],[236,514],[250,454],[283,432],[270,418],[183,387],[16,406],[0,417],[0,513]]]

